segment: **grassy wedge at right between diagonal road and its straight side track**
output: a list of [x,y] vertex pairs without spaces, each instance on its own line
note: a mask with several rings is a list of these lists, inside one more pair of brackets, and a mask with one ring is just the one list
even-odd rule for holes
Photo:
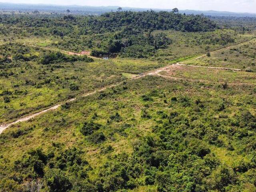
[[188,61],[185,64],[200,66],[216,66],[256,71],[256,40],[231,48],[216,51],[210,57]]

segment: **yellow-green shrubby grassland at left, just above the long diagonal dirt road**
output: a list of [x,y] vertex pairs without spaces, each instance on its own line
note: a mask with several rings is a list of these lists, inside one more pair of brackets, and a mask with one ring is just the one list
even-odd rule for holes
[[[30,54],[37,55],[38,51],[32,48]],[[1,69],[5,75],[0,78],[0,123],[122,82],[126,79],[122,73],[140,74],[163,65],[127,59],[96,59],[90,63],[77,61],[51,65],[14,61]]]

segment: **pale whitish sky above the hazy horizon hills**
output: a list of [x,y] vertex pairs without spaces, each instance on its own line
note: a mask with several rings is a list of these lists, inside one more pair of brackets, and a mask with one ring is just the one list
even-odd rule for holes
[[121,6],[180,10],[217,10],[256,13],[256,0],[0,0],[9,3]]

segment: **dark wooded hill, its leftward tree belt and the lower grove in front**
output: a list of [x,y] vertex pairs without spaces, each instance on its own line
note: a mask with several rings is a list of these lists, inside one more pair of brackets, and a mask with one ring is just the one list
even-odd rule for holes
[[[200,15],[184,15],[173,12],[110,12],[101,16],[8,16],[0,17],[0,23],[7,26],[22,26],[36,36],[54,35],[79,37],[81,35],[103,34],[104,43],[93,49],[93,56],[121,53],[125,57],[144,58],[154,55],[157,49],[166,48],[171,40],[165,34],[152,36],[153,30],[178,30],[182,32],[206,32],[216,28],[216,24]],[[10,33],[9,28],[2,34]],[[14,28],[15,30],[21,30]],[[116,32],[116,34],[106,34]],[[92,40],[86,41],[92,47]],[[132,47],[130,47],[132,46]],[[130,47],[130,48],[128,48]],[[128,48],[126,50],[126,48]],[[133,51],[134,50],[134,51]]]

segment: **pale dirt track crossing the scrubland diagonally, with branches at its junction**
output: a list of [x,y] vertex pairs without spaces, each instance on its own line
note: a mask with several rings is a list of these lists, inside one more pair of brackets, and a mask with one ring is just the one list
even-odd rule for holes
[[[250,40],[250,41],[251,41],[251,40]],[[250,42],[250,41],[248,41],[248,42]],[[243,43],[241,43],[241,44],[244,44],[244,43],[246,43],[246,42],[243,42]],[[239,44],[237,44],[237,45],[239,45]],[[234,46],[237,46],[237,45],[234,45]],[[219,50],[229,49],[229,48],[234,47],[234,46],[229,46],[229,47],[227,47],[227,48],[221,48],[221,49],[219,49]],[[216,51],[218,51],[218,50],[215,50],[215,51],[213,51],[213,52],[216,52]],[[73,54],[73,55],[82,55],[82,54],[80,54],[80,53],[74,53],[74,52],[68,52],[68,51],[62,51],[62,52],[66,52],[67,54],[70,54],[70,55],[72,55],[72,54]],[[196,60],[196,59],[202,58],[202,57],[204,57],[204,56],[205,56],[205,54],[202,55],[202,56],[199,56],[199,57],[197,57],[197,58],[191,59],[191,60]],[[95,57],[92,57],[92,56],[90,56],[90,57],[91,57],[91,58],[95,58]],[[97,58],[97,59],[101,59],[101,58]],[[142,75],[140,75],[140,76],[136,76],[136,77],[132,78],[132,80],[138,79],[138,78],[142,78],[142,77],[145,77],[145,76],[148,76],[148,75],[156,75],[156,76],[162,76],[162,77],[165,77],[165,78],[171,78],[171,79],[174,79],[174,80],[182,80],[183,78],[175,78],[175,77],[164,76],[164,75],[159,74],[160,72],[162,72],[162,71],[164,71],[164,70],[168,70],[168,68],[171,68],[171,67],[173,67],[173,66],[189,66],[189,67],[199,67],[199,68],[211,68],[211,69],[241,71],[240,69],[234,69],[234,68],[209,67],[209,66],[195,66],[195,65],[186,65],[186,64],[181,64],[181,63],[182,63],[182,62],[178,62],[178,63],[176,63],[176,64],[168,65],[168,66],[165,66],[165,67],[162,67],[162,68],[158,68],[158,69],[156,69],[156,70],[152,70],[152,71],[146,72],[145,74],[142,74]],[[122,83],[122,82],[120,82],[120,83],[118,83],[118,84],[106,86],[106,87],[101,88],[101,89],[99,89],[99,90],[95,90],[95,91],[93,91],[93,92],[84,94],[84,95],[82,95],[82,97],[90,96],[90,95],[95,94],[95,93],[97,93],[97,92],[102,92],[102,91],[104,91],[104,90],[106,90],[106,89],[108,89],[108,88],[112,88],[112,87],[118,86],[118,85],[120,85],[121,83]],[[37,112],[37,113],[35,113],[35,114],[30,114],[30,115],[28,115],[28,116],[22,117],[22,118],[20,118],[20,119],[14,121],[14,122],[12,122],[12,123],[0,125],[0,134],[2,134],[2,132],[3,132],[4,130],[6,130],[8,127],[10,127],[10,126],[12,126],[12,125],[14,125],[14,124],[16,124],[16,123],[24,122],[24,121],[30,120],[30,119],[32,119],[32,118],[34,118],[34,117],[36,117],[36,116],[39,116],[40,114],[46,113],[46,112],[51,111],[51,110],[56,110],[56,109],[59,108],[62,104],[68,103],[68,102],[72,102],[72,101],[75,101],[75,100],[77,100],[77,98],[72,98],[72,99],[70,99],[70,100],[67,100],[66,102],[62,102],[62,103],[60,103],[60,104],[56,104],[56,105],[54,105],[54,106],[52,106],[52,107],[50,107],[50,108],[48,108],[48,109],[42,110],[42,111]]]

